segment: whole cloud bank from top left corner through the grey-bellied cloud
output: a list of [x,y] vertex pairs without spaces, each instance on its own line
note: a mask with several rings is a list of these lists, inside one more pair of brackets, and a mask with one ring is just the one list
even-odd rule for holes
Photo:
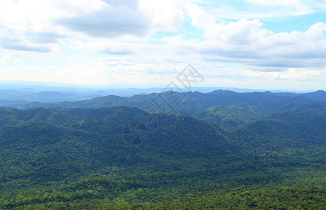
[[63,38],[141,40],[157,31],[177,31],[184,20],[182,2],[4,0],[0,44],[11,50],[51,52]]

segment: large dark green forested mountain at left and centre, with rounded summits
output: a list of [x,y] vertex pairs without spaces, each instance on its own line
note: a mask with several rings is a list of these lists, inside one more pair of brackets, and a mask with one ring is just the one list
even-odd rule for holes
[[125,124],[146,123],[136,108],[0,111],[3,183],[64,181],[99,175],[106,168],[111,172],[112,167],[130,172],[140,167],[156,173],[186,171],[200,169],[199,163],[210,157],[224,162],[221,155],[236,151],[215,127],[176,116],[167,116],[157,127],[149,125],[141,146],[130,146],[122,138]]

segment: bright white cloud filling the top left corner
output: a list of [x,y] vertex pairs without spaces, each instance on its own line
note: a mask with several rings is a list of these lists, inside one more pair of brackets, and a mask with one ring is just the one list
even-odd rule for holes
[[0,45],[9,50],[50,52],[57,50],[64,31],[50,24],[62,15],[54,1],[0,1]]

